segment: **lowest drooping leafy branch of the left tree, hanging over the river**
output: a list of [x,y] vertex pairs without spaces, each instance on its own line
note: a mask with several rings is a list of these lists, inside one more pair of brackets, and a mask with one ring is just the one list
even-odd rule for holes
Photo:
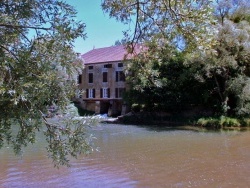
[[69,156],[77,158],[78,155],[91,151],[92,137],[86,134],[86,127],[92,125],[94,121],[95,119],[90,116],[80,119],[66,117],[57,121],[45,119],[47,151],[55,167],[69,166]]

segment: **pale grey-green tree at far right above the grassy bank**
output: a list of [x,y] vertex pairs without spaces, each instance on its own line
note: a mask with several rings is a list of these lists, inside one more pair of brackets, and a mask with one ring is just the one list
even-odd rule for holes
[[205,77],[214,80],[221,114],[249,115],[250,4],[217,0],[215,7],[216,43],[209,50],[190,54],[190,62],[203,64]]

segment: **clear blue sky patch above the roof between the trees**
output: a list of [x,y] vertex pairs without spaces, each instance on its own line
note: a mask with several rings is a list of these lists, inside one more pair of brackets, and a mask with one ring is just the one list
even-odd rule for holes
[[75,42],[74,50],[86,53],[93,48],[108,47],[123,38],[123,32],[128,25],[110,18],[101,8],[101,0],[67,0],[68,4],[77,10],[77,20],[86,24],[87,38],[79,38]]

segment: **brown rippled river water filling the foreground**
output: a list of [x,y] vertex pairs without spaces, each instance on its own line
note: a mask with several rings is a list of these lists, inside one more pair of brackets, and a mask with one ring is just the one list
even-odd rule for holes
[[250,132],[103,124],[98,149],[54,169],[45,144],[0,151],[0,187],[248,187]]

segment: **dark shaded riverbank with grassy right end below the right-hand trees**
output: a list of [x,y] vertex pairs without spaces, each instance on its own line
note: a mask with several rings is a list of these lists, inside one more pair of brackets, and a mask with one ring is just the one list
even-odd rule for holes
[[116,118],[107,118],[102,123],[158,125],[158,126],[195,126],[209,129],[250,128],[250,118],[185,117],[181,115],[157,114],[151,112],[130,112]]

